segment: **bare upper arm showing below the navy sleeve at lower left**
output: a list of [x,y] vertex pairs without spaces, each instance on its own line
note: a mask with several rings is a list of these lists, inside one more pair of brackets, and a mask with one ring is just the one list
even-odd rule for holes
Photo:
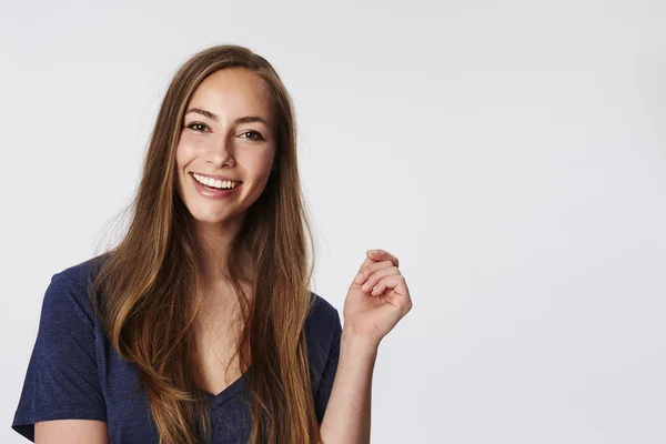
[[107,444],[107,423],[90,420],[53,420],[34,423],[36,444]]

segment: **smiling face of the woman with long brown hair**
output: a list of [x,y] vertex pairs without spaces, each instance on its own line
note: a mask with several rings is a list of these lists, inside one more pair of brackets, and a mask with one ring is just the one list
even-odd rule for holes
[[[179,196],[196,221],[233,224],[259,199],[273,167],[276,141],[269,88],[242,68],[216,71],[194,92],[182,123],[175,153]],[[210,189],[229,186],[225,180],[236,188]]]

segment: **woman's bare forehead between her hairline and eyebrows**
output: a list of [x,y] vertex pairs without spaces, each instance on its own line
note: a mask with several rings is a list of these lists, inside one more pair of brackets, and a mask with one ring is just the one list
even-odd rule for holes
[[272,95],[262,78],[244,68],[225,68],[206,77],[188,108],[204,108],[219,115],[272,114]]

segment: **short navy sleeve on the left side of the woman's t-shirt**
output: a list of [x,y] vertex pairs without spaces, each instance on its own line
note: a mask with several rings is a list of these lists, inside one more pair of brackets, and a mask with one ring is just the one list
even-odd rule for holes
[[46,291],[12,428],[34,441],[34,423],[49,420],[107,421],[92,304],[64,272]]

